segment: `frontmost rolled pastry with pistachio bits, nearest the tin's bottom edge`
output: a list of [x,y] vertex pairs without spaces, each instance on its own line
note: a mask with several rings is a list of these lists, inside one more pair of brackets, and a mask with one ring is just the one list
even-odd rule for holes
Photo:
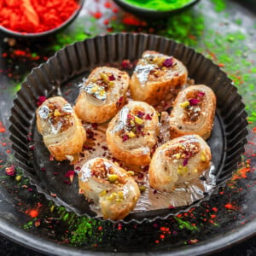
[[123,168],[104,158],[87,161],[79,171],[79,189],[98,202],[103,218],[125,218],[136,206],[140,189]]

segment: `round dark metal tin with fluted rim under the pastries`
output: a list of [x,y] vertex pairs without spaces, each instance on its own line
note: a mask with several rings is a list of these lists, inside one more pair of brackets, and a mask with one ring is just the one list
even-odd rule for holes
[[[44,193],[49,200],[55,201],[58,206],[62,205],[77,214],[95,216],[95,212],[91,212],[89,204],[84,201],[84,196],[78,193],[77,177],[71,186],[67,187],[64,183],[64,174],[72,170],[73,166],[69,166],[67,162],[49,161],[49,152],[35,127],[38,97],[61,93],[67,101],[73,103],[79,93],[77,85],[92,68],[102,65],[117,67],[123,60],[136,61],[146,49],[175,56],[183,61],[188,68],[189,77],[195,79],[195,84],[207,84],[214,90],[218,102],[217,115],[208,143],[216,167],[215,190],[236,170],[246,143],[247,114],[236,87],[217,65],[196,53],[194,49],[154,35],[121,33],[91,38],[61,49],[49,61],[33,69],[17,94],[10,117],[11,140],[16,160],[38,191]],[[27,136],[32,137],[34,150],[30,149],[31,142],[27,140]],[[42,171],[42,167],[45,171]],[[54,176],[55,172],[61,172],[62,175]],[[209,199],[210,195],[203,200]],[[200,202],[173,210],[133,213],[125,218],[125,222],[166,218],[188,211]]]

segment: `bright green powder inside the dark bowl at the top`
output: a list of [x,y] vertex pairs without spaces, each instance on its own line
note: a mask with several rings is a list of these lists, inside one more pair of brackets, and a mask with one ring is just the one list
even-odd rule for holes
[[127,3],[142,7],[143,9],[153,10],[174,10],[183,8],[183,6],[192,3],[191,0],[125,0]]

